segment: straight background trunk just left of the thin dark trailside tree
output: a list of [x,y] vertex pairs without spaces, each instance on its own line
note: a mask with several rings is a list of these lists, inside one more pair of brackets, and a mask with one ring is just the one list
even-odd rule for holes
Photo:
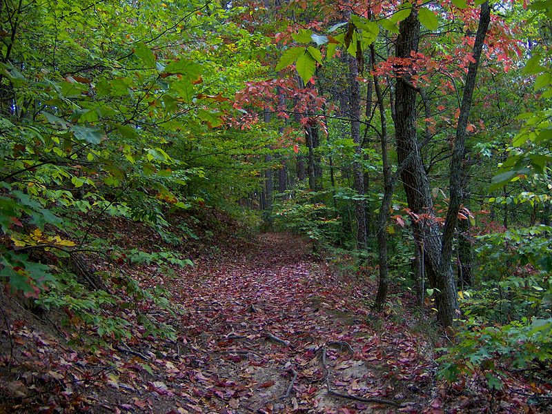
[[362,143],[360,140],[360,88],[358,84],[358,62],[355,57],[348,56],[349,97],[348,115],[351,119],[351,138],[355,143],[355,160],[353,161],[353,178],[355,191],[362,199],[355,201],[355,218],[357,220],[357,247],[366,247],[366,201],[364,200],[364,172],[362,171]]

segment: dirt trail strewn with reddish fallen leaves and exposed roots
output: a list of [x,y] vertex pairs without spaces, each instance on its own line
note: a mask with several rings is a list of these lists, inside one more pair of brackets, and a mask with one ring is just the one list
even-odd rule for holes
[[385,319],[378,332],[369,326],[367,286],[333,276],[293,235],[265,233],[236,250],[171,282],[188,311],[186,409],[422,411],[434,366],[422,357],[429,347]]

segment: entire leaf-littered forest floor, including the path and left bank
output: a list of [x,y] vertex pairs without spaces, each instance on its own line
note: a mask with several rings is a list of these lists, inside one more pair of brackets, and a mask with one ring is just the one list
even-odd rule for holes
[[176,342],[144,338],[121,310],[130,339],[75,344],[55,315],[1,295],[9,364],[0,413],[466,413],[492,404],[435,380],[439,335],[408,296],[374,313],[373,282],[316,259],[297,236],[264,233],[193,267],[141,270],[142,286],[168,288],[181,309],[142,310],[175,326]]

